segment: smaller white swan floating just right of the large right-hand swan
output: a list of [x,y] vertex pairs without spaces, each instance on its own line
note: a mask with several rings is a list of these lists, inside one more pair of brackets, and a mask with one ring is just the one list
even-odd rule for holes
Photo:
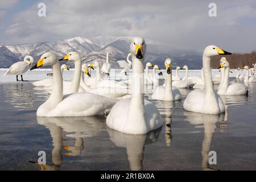
[[222,61],[220,68],[224,68],[224,81],[221,84],[221,87],[218,89],[219,95],[245,95],[248,92],[247,86],[240,83],[229,84],[229,62],[225,59]]

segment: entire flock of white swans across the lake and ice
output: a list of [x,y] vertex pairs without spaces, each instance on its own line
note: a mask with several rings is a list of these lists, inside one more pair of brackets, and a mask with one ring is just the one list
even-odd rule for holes
[[[122,68],[122,73],[132,67],[131,79],[128,81],[114,81],[106,79],[110,75],[111,65],[109,52],[106,55],[106,63],[102,65],[94,61],[92,64],[82,64],[81,57],[77,52],[71,52],[63,59],[58,60],[54,53],[44,53],[38,62],[31,67],[34,59],[26,56],[24,61],[11,65],[5,75],[21,75],[40,67],[52,67],[52,78],[33,82],[32,85],[42,87],[51,95],[48,100],[39,106],[36,111],[38,117],[82,117],[108,114],[106,125],[114,130],[126,134],[146,134],[163,125],[163,119],[156,106],[149,100],[144,99],[144,85],[158,85],[157,75],[162,75],[158,65],[146,63],[144,76],[144,55],[146,43],[142,37],[131,40],[130,53],[127,60],[117,61]],[[152,100],[172,102],[181,100],[179,89],[199,88],[189,92],[184,100],[183,107],[187,111],[203,114],[220,114],[225,112],[221,96],[248,94],[247,82],[256,82],[254,68],[245,66],[246,74],[238,75],[244,83],[229,82],[231,71],[226,57],[220,60],[220,75],[212,77],[210,60],[215,55],[231,55],[216,46],[207,46],[203,52],[203,68],[201,77],[189,77],[188,67],[176,68],[176,76],[172,76],[172,60],[164,61],[165,82],[164,85],[156,86],[152,92]],[[131,60],[130,60],[131,57]],[[73,80],[63,81],[63,71],[68,70],[67,65],[60,65],[60,61],[73,61],[75,72]],[[153,68],[152,76],[148,69]],[[91,77],[91,69],[96,72],[96,77]],[[179,70],[185,70],[185,76],[179,77]],[[159,71],[157,74],[156,71]],[[22,78],[22,81],[23,78]],[[131,84],[131,92],[127,85]],[[217,93],[213,85],[219,84]]]

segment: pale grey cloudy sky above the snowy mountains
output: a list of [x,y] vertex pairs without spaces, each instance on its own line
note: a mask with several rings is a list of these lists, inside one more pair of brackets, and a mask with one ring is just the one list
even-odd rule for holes
[[[46,17],[38,4],[46,4]],[[209,17],[209,3],[217,17]],[[256,50],[256,1],[8,0],[0,1],[0,45],[82,36],[144,36],[177,48],[214,44]]]

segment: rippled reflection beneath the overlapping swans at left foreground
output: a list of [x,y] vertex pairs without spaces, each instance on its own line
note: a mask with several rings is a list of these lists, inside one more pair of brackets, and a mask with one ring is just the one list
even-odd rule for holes
[[[40,125],[46,126],[52,137],[52,163],[38,164],[43,171],[58,170],[62,164],[61,151],[67,151],[65,155],[79,156],[84,149],[83,138],[94,137],[104,129],[103,117],[37,117]],[[67,137],[75,138],[73,146],[64,146],[63,131],[68,133]]]

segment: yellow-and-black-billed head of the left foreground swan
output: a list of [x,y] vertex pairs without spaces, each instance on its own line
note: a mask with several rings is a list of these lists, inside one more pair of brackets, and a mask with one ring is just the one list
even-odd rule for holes
[[36,65],[34,65],[34,67],[32,67],[30,70],[40,68],[43,66],[52,66],[52,65],[55,65],[56,63],[57,63],[57,57],[55,56],[55,54],[52,52],[46,52],[38,60],[38,63],[36,63]]

